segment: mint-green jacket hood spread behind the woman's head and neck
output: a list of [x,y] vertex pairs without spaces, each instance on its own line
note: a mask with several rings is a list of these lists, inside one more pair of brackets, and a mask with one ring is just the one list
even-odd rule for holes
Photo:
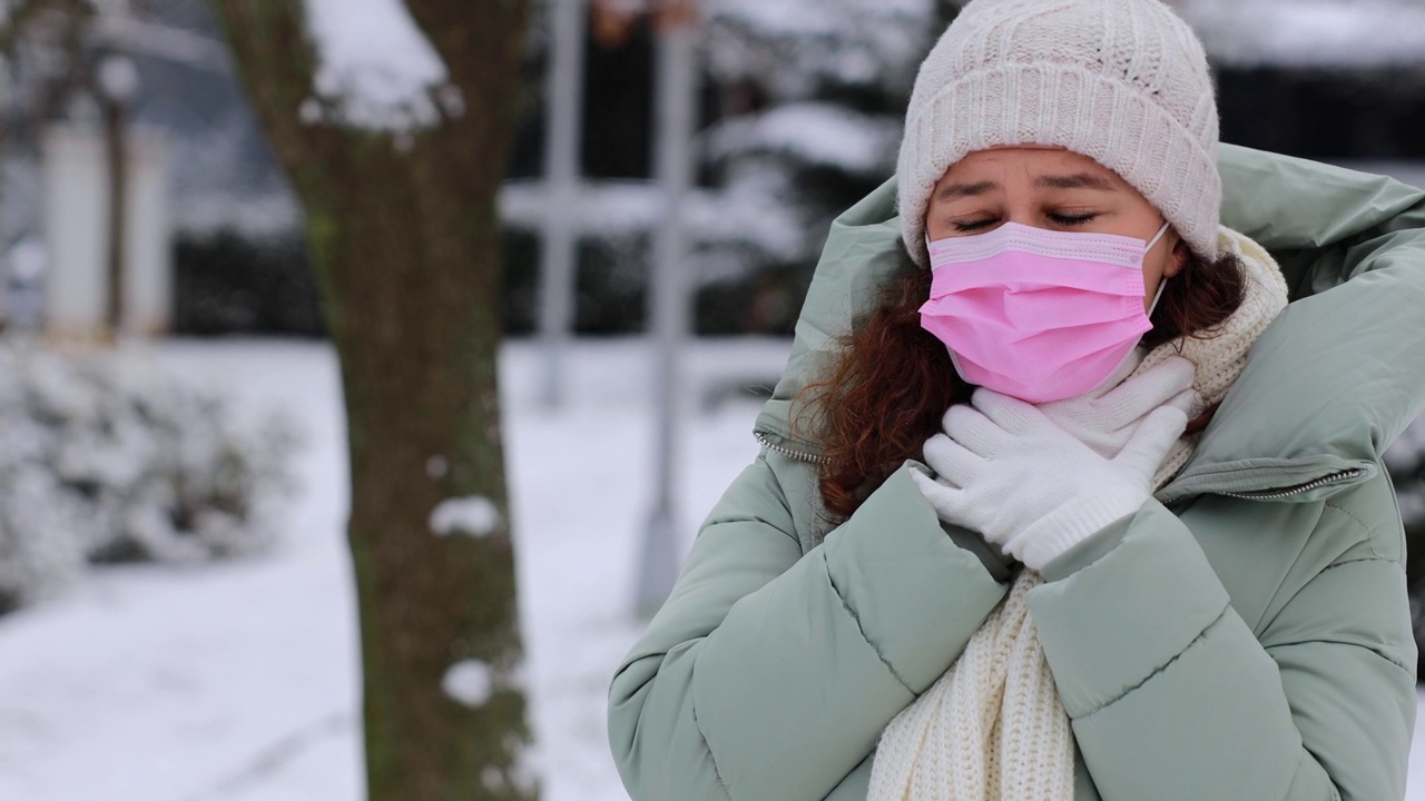
[[[1291,304],[1267,328],[1183,472],[1159,497],[1315,500],[1379,472],[1425,406],[1425,192],[1389,178],[1223,145],[1223,224],[1281,265]],[[913,265],[896,182],[832,222],[782,379],[757,419],[768,448],[815,459],[792,399]]]

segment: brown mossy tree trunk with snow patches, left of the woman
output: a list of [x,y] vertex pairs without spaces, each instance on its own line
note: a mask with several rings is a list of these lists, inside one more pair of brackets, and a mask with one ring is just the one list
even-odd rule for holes
[[[496,386],[494,205],[527,3],[408,0],[463,101],[405,135],[299,118],[315,67],[301,3],[215,6],[302,200],[342,363],[369,798],[533,798]],[[442,520],[437,509],[465,515]]]

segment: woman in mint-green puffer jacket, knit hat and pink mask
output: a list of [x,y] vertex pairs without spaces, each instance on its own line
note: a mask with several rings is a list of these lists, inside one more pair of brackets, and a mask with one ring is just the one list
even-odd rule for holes
[[613,680],[633,798],[1404,795],[1425,194],[1216,135],[1156,0],[962,11]]

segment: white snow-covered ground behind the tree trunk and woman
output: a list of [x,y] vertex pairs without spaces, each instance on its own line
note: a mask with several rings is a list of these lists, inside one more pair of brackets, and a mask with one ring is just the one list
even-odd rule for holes
[[[681,463],[687,537],[755,455],[785,342],[701,343]],[[174,373],[229,386],[254,413],[306,423],[304,502],[262,557],[94,572],[63,597],[0,619],[0,798],[26,801],[358,801],[356,629],[343,542],[339,385],[325,345],[171,342]],[[546,801],[626,801],[608,758],[604,691],[640,630],[627,609],[653,460],[640,342],[580,343],[571,402],[539,408],[542,362],[503,359],[533,724]],[[684,543],[687,544],[687,543]],[[1422,715],[1425,717],[1425,715]],[[1414,754],[1425,775],[1425,738]],[[1425,780],[1411,798],[1425,801]]]

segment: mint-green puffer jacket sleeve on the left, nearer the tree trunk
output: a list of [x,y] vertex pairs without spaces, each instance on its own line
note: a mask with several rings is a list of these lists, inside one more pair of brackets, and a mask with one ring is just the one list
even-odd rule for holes
[[636,801],[824,798],[1005,593],[909,463],[805,554],[779,467],[764,452],[727,490],[613,678]]

